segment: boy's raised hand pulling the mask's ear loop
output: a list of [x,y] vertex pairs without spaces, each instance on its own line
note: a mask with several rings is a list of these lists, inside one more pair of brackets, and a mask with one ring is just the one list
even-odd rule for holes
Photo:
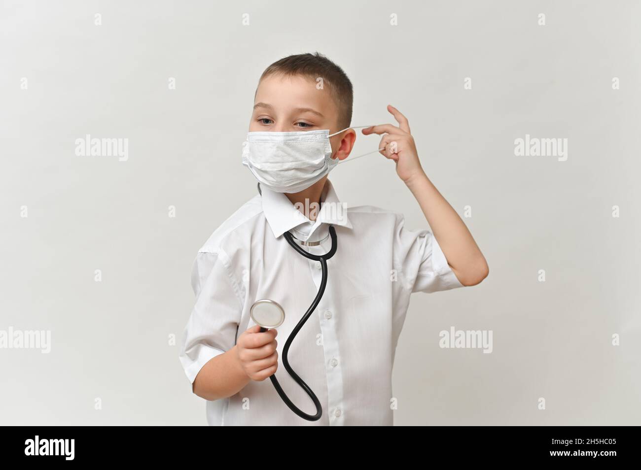
[[416,175],[423,175],[424,171],[420,166],[419,154],[416,151],[414,138],[410,134],[410,123],[407,118],[391,104],[387,105],[387,110],[392,113],[399,125],[379,124],[366,127],[363,129],[363,134],[384,134],[378,148],[385,147],[385,149],[379,150],[379,154],[395,161],[396,174],[407,184]]

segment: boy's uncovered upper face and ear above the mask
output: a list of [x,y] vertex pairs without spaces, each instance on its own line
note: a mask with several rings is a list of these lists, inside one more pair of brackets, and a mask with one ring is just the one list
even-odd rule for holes
[[[338,108],[328,88],[317,89],[316,82],[303,76],[274,74],[262,79],[256,90],[249,131],[316,131],[338,128]],[[347,142],[345,141],[347,138]],[[352,129],[330,137],[329,142],[344,159],[356,138]]]

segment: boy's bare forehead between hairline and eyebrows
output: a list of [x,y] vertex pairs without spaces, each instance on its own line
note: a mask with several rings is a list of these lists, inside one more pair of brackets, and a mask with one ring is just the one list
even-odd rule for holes
[[336,104],[327,87],[317,87],[310,77],[273,74],[264,77],[256,89],[254,104],[265,103],[277,111],[294,108],[313,108],[325,117],[335,117]]

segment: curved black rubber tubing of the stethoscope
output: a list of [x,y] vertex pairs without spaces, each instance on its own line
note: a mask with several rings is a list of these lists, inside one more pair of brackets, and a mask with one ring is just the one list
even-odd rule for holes
[[[318,306],[320,299],[322,298],[322,295],[325,293],[325,286],[327,285],[327,260],[331,258],[335,253],[336,253],[336,248],[337,248],[337,238],[336,238],[336,229],[334,229],[333,225],[329,225],[329,235],[331,236],[331,249],[324,255],[313,255],[311,253],[306,252],[301,248],[296,241],[294,241],[294,238],[292,237],[292,234],[290,232],[285,232],[285,239],[287,239],[288,243],[294,247],[294,249],[299,252],[301,255],[303,255],[306,258],[312,259],[314,261],[320,261],[320,266],[322,268],[322,279],[320,279],[320,288],[318,293],[316,294],[316,297],[314,298],[314,301],[312,302],[312,305],[310,305],[310,308],[307,309],[305,314],[303,315],[303,318],[301,318],[301,321],[298,322],[296,327],[292,330],[290,333],[289,337],[287,338],[287,341],[285,342],[285,346],[283,347],[283,364],[285,365],[285,369],[289,373],[289,375],[296,380],[297,384],[301,385],[304,391],[312,398],[312,401],[314,402],[314,405],[316,406],[316,414],[307,414],[303,410],[299,409],[294,403],[292,403],[292,400],[289,399],[287,394],[283,391],[281,388],[280,384],[278,383],[278,380],[276,380],[276,374],[271,375],[269,377],[272,381],[272,384],[274,384],[274,388],[280,395],[280,397],[285,401],[285,404],[290,407],[290,409],[296,413],[298,416],[302,417],[303,419],[307,419],[308,421],[317,421],[320,419],[320,416],[322,416],[322,407],[320,406],[320,401],[317,398],[316,394],[313,393],[312,389],[307,385],[304,380],[300,377],[298,377],[298,374],[294,372],[294,369],[292,369],[292,366],[289,365],[289,361],[287,359],[287,352],[289,351],[289,347],[292,344],[292,341],[294,341],[294,337],[296,337],[296,334],[303,328],[303,325],[305,322],[312,316],[312,312],[314,309]],[[260,331],[267,331],[267,328],[260,328]]]

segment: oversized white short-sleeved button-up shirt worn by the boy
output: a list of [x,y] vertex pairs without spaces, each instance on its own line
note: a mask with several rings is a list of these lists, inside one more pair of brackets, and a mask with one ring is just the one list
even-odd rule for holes
[[[427,229],[410,231],[403,215],[373,206],[344,207],[326,182],[315,221],[260,184],[257,194],[225,220],[199,250],[192,272],[196,304],[179,359],[194,382],[206,362],[231,349],[256,323],[251,305],[269,298],[285,310],[278,327],[276,378],[299,409],[315,414],[305,391],[287,373],[283,346],[316,296],[320,263],[294,251],[283,236],[313,241],[337,233],[324,296],[294,339],[290,365],[322,405],[317,421],[297,416],[269,378],[237,394],[206,402],[209,425],[393,425],[392,365],[413,292],[462,287]],[[330,210],[331,209],[331,210]],[[331,238],[313,254],[331,248]],[[224,380],[224,379],[223,379]]]

